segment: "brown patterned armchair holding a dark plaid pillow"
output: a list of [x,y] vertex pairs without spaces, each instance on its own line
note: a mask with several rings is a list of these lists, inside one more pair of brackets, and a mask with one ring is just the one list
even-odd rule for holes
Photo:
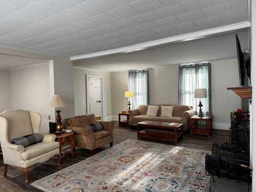
[[[102,124],[102,130],[93,132],[92,128],[84,128],[85,125],[98,122]],[[65,119],[66,129],[74,132],[76,147],[89,149],[94,155],[94,149],[106,144],[113,146],[114,122],[96,121],[95,115],[81,115]]]

